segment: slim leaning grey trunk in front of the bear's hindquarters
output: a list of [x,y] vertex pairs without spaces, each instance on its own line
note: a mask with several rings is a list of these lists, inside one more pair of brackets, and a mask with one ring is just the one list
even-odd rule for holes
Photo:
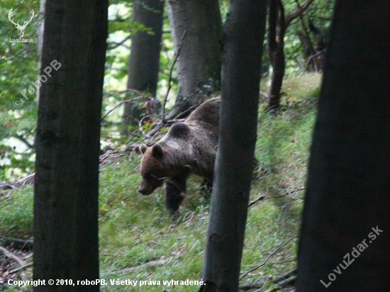
[[238,291],[257,135],[267,1],[230,1],[224,27],[221,122],[200,291]]

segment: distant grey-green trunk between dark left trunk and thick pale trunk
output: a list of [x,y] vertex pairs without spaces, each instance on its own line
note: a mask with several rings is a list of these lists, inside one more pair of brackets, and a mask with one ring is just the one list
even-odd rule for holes
[[[160,43],[164,2],[161,0],[135,1],[133,21],[151,31],[138,30],[131,36],[128,65],[128,89],[136,89],[156,96],[160,68]],[[126,103],[123,112],[123,133],[128,135],[129,125],[137,125],[143,110],[140,102]]]

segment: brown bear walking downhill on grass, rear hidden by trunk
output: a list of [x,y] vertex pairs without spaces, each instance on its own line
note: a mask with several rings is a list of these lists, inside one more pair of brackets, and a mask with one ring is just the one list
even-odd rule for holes
[[143,181],[138,192],[150,195],[165,182],[165,203],[175,213],[186,193],[189,174],[202,176],[212,184],[220,105],[219,97],[209,99],[183,123],[174,123],[155,145],[140,146]]

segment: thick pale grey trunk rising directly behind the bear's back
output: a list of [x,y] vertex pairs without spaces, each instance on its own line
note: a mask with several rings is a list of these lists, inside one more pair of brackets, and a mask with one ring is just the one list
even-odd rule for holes
[[222,21],[218,0],[168,0],[167,9],[175,52],[182,46],[177,60],[179,92],[167,116],[172,119],[204,95],[219,91]]

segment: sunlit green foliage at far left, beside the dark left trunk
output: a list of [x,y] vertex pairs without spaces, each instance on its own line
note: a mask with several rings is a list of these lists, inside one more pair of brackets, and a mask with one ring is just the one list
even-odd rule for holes
[[[11,8],[11,18],[16,23],[27,21],[30,18],[28,13],[32,9],[35,11],[35,17],[26,26],[23,36],[33,38],[34,43],[10,43],[10,39],[18,38],[18,30],[8,19]],[[37,111],[35,94],[26,94],[27,100],[21,92],[38,77],[39,1],[1,1],[0,15],[3,16],[0,19],[0,35],[3,37],[0,40],[0,180],[11,180],[13,175],[30,172],[33,164],[30,161],[32,152],[23,147],[20,140],[16,143],[15,137],[23,137],[33,144]],[[14,101],[23,104],[16,108]]]

